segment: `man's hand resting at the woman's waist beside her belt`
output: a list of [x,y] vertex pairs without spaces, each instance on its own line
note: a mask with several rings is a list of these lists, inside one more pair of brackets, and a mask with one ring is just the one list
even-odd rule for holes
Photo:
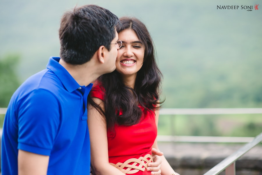
[[160,152],[159,150],[152,148],[152,157],[153,157],[153,161],[149,163],[147,166],[147,171],[152,171],[151,174],[152,175],[160,175],[161,174],[161,163],[162,163],[162,159],[161,159],[161,155],[163,155],[162,152]]

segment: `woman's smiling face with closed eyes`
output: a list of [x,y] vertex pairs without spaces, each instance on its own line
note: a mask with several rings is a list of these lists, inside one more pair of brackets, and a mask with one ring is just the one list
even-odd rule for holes
[[122,47],[116,58],[116,71],[123,76],[136,76],[144,60],[144,46],[132,29],[125,29],[118,33]]

